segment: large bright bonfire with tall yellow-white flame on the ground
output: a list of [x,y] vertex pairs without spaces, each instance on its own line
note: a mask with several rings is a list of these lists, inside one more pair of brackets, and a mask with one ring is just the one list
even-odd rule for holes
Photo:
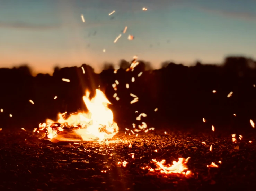
[[105,141],[118,133],[118,126],[113,121],[113,113],[107,107],[111,104],[104,93],[96,89],[96,96],[89,99],[89,92],[83,96],[83,101],[88,108],[88,113],[70,115],[59,114],[57,122],[50,119],[46,123],[39,124],[34,132],[38,132],[52,142],[59,141]]

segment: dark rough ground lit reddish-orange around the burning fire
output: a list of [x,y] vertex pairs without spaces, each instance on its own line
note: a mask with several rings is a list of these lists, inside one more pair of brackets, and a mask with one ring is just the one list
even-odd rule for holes
[[[0,190],[255,190],[253,137],[243,134],[242,140],[233,143],[231,133],[210,136],[164,134],[155,130],[140,132],[136,137],[120,132],[115,137],[118,139],[107,147],[98,142],[51,143],[28,131],[3,129]],[[134,159],[130,153],[134,153]],[[171,164],[179,157],[191,157],[188,169],[193,176],[164,175],[142,169],[151,165],[152,159],[165,159],[166,164]],[[117,165],[124,160],[128,162],[126,167]],[[206,167],[212,162],[219,167]],[[105,170],[106,173],[102,172]]]

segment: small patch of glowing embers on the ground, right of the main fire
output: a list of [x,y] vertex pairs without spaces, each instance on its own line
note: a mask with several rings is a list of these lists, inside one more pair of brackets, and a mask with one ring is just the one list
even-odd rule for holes
[[[184,174],[188,175],[191,174],[191,171],[188,170],[186,163],[190,157],[187,159],[184,158],[179,158],[178,162],[173,161],[173,165],[165,165],[165,160],[162,161],[157,161],[156,159],[152,159],[152,163],[154,163],[157,167],[155,169],[149,168],[148,166],[146,167],[150,172],[157,172],[160,171],[163,174],[172,174],[172,173],[179,173],[179,174]],[[146,169],[142,168],[142,169]]]

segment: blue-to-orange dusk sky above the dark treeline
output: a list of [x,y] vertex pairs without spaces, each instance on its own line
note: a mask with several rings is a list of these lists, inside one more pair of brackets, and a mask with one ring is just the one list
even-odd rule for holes
[[255,59],[255,50],[255,0],[0,0],[0,67],[52,73],[86,63],[100,72],[134,55],[159,68]]

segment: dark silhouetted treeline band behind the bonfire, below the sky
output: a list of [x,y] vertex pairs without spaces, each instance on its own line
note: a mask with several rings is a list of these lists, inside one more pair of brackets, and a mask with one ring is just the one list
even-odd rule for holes
[[[82,100],[85,90],[95,92],[99,86],[112,103],[109,107],[121,127],[131,128],[132,123],[146,122],[155,128],[208,127],[211,130],[214,125],[216,129],[252,129],[249,120],[256,121],[256,62],[252,59],[227,57],[223,65],[197,62],[190,67],[164,62],[158,70],[149,70],[150,65],[140,61],[134,71],[126,72],[129,65],[121,60],[120,69],[114,73],[113,66],[106,63],[100,74],[86,64],[82,65],[85,73],[81,67],[55,67],[53,76],[38,74],[36,77],[27,66],[2,68],[0,128],[35,128],[47,118],[55,120],[59,112],[86,111]],[[140,72],[143,73],[138,77]],[[116,91],[112,87],[115,80],[119,82]],[[228,98],[231,91],[233,94]],[[113,97],[114,93],[120,100]],[[139,101],[130,104],[133,100],[130,93],[138,96]],[[140,113],[146,113],[147,117],[137,121]],[[203,118],[207,123],[203,123]]]

